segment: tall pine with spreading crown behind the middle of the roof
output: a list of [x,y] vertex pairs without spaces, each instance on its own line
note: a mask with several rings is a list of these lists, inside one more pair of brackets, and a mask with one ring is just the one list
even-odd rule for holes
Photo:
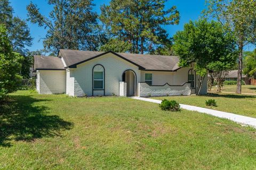
[[166,0],[111,0],[101,6],[100,20],[113,37],[132,44],[130,53],[151,52],[167,36],[162,25],[178,24],[179,12],[165,10]]

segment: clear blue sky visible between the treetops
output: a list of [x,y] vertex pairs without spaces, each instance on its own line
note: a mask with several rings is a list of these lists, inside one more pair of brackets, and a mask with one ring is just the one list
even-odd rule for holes
[[[14,9],[14,15],[19,16],[21,19],[27,19],[27,10],[26,6],[33,2],[39,7],[39,11],[44,16],[49,16],[49,13],[52,11],[52,6],[47,4],[47,0],[10,0],[11,5]],[[108,5],[110,0],[94,0],[93,11],[100,14],[100,6],[103,4]],[[190,20],[195,21],[201,16],[202,10],[205,8],[205,0],[169,0],[165,3],[166,8],[170,8],[173,5],[177,7],[177,10],[180,12],[180,23],[178,25],[166,25],[164,28],[169,33],[169,36],[172,37],[175,32],[183,30],[183,25]],[[34,38],[33,45],[27,47],[29,50],[43,49],[43,40],[47,30],[44,27],[38,27],[37,24],[32,24],[29,21],[28,27],[30,28],[31,37]],[[248,46],[245,50],[252,50],[252,47]]]

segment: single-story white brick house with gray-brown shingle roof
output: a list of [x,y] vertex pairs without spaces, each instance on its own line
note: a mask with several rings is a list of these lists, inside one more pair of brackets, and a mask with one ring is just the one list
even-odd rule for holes
[[[191,95],[197,75],[177,56],[60,49],[58,57],[34,56],[39,94],[69,96]],[[207,80],[200,94],[207,92]]]

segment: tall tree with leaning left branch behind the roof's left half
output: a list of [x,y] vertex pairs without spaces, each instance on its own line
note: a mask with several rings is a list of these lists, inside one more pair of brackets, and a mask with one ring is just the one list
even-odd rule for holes
[[48,0],[53,5],[49,17],[39,12],[33,3],[27,6],[28,20],[47,28],[44,48],[57,55],[59,49],[96,50],[99,46],[97,13],[92,12],[92,0]]

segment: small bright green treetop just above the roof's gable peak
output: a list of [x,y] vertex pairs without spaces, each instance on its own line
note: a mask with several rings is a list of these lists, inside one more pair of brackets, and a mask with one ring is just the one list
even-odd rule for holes
[[125,53],[129,51],[132,47],[132,44],[119,40],[119,39],[110,39],[108,43],[105,45],[102,45],[100,47],[100,51],[107,52],[109,50],[112,50],[116,53]]

